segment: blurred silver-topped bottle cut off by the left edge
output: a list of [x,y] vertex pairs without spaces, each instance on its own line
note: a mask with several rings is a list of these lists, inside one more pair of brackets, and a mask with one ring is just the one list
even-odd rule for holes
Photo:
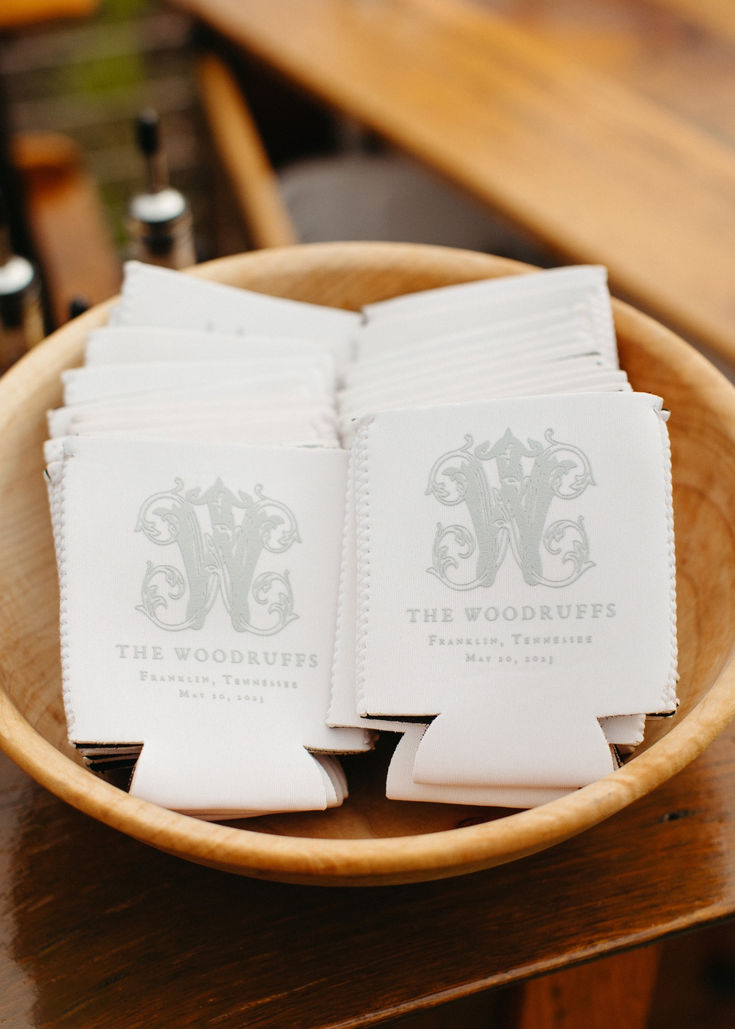
[[29,260],[13,253],[0,198],[0,374],[42,339],[38,276]]

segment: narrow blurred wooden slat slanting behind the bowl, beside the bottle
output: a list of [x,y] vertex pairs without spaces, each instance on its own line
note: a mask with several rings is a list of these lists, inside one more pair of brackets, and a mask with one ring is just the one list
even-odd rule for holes
[[211,55],[200,61],[198,72],[212,139],[253,246],[297,243],[278,179],[233,75]]

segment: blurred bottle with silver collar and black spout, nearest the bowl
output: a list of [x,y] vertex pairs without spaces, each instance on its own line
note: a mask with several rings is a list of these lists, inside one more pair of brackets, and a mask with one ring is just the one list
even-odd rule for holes
[[169,184],[159,116],[142,111],[136,119],[138,149],[145,159],[146,191],[128,208],[130,257],[146,264],[182,269],[197,260],[191,212],[186,198]]

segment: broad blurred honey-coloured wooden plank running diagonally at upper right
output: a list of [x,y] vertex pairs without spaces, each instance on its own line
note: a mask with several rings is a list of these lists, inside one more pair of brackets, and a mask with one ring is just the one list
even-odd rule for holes
[[[699,88],[691,64],[679,103],[666,106],[651,77],[647,91],[640,87],[640,70],[628,82],[614,74],[624,63],[620,36],[605,42],[604,26],[596,45],[583,48],[600,69],[575,59],[559,34],[498,16],[490,0],[174,2],[563,259],[606,264],[619,294],[735,358],[735,141],[715,135],[723,119],[711,110],[707,117],[690,103],[687,111],[685,87]],[[697,8],[689,0],[666,4]],[[537,14],[554,5],[530,6]],[[704,5],[711,16],[700,12],[696,25],[680,11],[678,22],[663,23],[662,3],[644,6],[652,33],[673,24],[669,31],[705,39],[716,31],[727,37],[729,27],[730,48],[712,69],[732,56],[735,23],[725,5]],[[715,74],[722,81],[722,71],[708,68],[699,77]]]

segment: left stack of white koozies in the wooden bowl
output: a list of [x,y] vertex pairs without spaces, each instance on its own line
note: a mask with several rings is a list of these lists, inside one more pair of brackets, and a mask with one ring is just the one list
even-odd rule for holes
[[46,460],[69,736],[94,769],[134,766],[136,796],[227,818],[346,795],[329,755],[369,736],[325,717],[336,364],[358,322],[132,264],[64,376]]

